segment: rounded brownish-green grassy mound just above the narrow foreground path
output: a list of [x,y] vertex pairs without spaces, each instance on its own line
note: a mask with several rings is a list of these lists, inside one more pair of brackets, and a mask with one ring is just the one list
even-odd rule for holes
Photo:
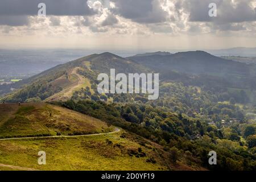
[[0,138],[81,135],[114,130],[98,119],[49,104],[2,104],[0,110]]

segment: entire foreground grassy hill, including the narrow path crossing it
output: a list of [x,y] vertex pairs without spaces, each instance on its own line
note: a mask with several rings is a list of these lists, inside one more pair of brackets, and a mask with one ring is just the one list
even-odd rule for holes
[[[159,144],[63,107],[2,104],[0,111],[0,170],[200,169],[174,165]],[[47,165],[37,163],[39,151]]]

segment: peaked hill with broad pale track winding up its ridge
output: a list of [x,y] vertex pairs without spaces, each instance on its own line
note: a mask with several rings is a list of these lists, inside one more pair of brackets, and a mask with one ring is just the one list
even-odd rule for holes
[[116,73],[151,72],[142,65],[112,53],[94,54],[58,65],[23,80],[18,86],[13,86],[13,88],[20,87],[19,89],[2,96],[2,100],[8,102],[65,101],[71,98],[73,93],[87,86],[93,94],[96,90],[98,74],[110,74],[112,68],[115,68]]

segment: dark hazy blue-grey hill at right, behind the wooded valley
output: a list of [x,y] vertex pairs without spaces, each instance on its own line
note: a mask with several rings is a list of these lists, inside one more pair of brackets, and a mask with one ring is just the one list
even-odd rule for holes
[[128,57],[134,63],[158,72],[179,71],[195,74],[250,75],[250,67],[236,61],[222,59],[204,51],[178,52],[173,55],[145,54]]

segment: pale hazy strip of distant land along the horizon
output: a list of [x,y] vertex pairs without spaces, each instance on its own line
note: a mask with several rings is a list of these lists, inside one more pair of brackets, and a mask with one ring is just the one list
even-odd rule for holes
[[187,52],[187,51],[205,51],[215,56],[242,56],[242,57],[256,57],[256,47],[230,47],[226,49],[90,49],[90,48],[0,48],[0,54],[8,54],[9,52],[19,53],[22,56],[29,55],[30,53],[39,55],[43,52],[53,53],[63,52],[63,57],[65,55],[69,56],[88,56],[94,53],[104,53],[110,52],[121,57],[134,56],[141,53],[152,53],[152,52]]

